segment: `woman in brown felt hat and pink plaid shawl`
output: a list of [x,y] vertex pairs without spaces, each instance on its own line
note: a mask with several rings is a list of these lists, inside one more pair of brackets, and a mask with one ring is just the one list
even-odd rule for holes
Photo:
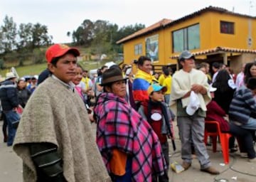
[[94,109],[97,145],[113,181],[151,181],[164,175],[166,163],[156,134],[125,100],[126,80],[115,68],[102,75],[104,92]]

